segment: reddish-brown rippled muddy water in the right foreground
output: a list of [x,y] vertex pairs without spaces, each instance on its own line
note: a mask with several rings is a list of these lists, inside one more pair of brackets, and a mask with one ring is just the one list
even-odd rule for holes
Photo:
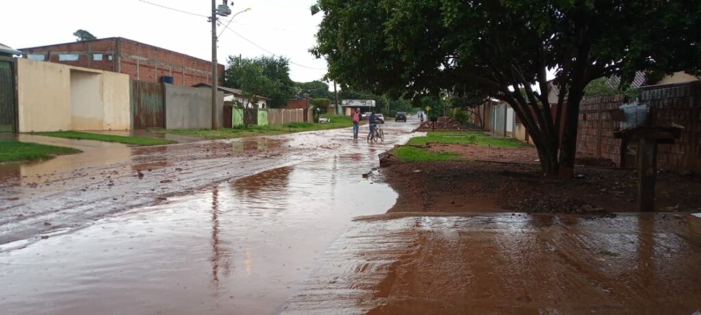
[[701,238],[660,215],[355,222],[283,314],[692,314]]

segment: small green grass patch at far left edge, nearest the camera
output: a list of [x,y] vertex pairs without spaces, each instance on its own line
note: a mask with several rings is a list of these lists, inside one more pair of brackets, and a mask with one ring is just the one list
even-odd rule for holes
[[81,153],[81,151],[62,146],[46,146],[14,139],[0,139],[0,162],[48,160],[54,158],[55,155],[73,153]]

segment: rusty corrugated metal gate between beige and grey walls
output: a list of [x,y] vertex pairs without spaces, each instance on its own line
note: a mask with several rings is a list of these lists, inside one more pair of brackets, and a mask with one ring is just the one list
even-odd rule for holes
[[131,81],[134,129],[165,128],[163,83]]

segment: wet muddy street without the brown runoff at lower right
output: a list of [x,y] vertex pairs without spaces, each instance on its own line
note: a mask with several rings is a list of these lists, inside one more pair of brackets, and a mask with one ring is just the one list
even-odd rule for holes
[[20,136],[85,153],[0,167],[0,309],[275,314],[353,217],[394,204],[361,175],[415,125],[388,122],[381,144],[350,129],[151,148]]

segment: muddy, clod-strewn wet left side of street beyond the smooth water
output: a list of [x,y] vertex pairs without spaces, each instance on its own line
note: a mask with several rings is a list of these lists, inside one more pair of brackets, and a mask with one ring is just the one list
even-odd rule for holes
[[144,148],[30,136],[23,140],[51,141],[83,153],[0,165],[0,244],[23,246],[41,234],[81,228],[104,216],[276,167],[355,152],[372,154],[376,162],[376,154],[411,137],[411,127],[388,124],[383,144],[353,142],[350,129]]

